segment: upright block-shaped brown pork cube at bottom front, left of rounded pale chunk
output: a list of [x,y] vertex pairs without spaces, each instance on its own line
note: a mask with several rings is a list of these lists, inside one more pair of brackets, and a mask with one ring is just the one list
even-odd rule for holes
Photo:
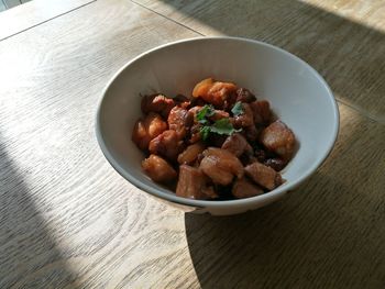
[[212,187],[207,186],[208,178],[199,168],[182,165],[176,186],[176,196],[205,200],[218,198]]

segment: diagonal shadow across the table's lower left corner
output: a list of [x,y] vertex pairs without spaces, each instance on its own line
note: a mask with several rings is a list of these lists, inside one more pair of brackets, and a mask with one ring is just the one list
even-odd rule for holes
[[[62,288],[75,280],[0,135],[0,288]],[[75,285],[72,288],[76,288]]]

